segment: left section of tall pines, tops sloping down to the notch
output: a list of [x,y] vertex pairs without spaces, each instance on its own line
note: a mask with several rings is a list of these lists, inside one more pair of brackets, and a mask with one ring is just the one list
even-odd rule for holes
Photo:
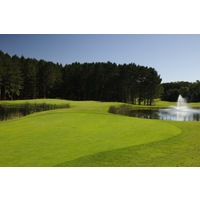
[[63,67],[0,51],[0,99],[61,97]]

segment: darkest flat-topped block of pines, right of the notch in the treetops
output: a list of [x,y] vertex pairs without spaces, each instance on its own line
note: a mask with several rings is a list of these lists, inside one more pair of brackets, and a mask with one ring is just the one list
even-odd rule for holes
[[[152,104],[159,95],[160,76],[153,68],[133,63],[73,63],[64,68],[65,95],[75,100]],[[136,102],[137,101],[137,102]]]

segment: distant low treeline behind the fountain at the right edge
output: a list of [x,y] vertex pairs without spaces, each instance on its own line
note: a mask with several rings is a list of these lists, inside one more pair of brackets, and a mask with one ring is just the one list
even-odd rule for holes
[[162,100],[177,101],[178,95],[181,94],[188,102],[200,101],[200,81],[196,82],[171,82],[163,83]]

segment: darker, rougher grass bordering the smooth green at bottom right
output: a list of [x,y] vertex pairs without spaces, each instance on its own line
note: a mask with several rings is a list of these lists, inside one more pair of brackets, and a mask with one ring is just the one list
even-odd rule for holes
[[157,142],[85,156],[57,166],[199,167],[200,123],[171,123],[182,133]]

